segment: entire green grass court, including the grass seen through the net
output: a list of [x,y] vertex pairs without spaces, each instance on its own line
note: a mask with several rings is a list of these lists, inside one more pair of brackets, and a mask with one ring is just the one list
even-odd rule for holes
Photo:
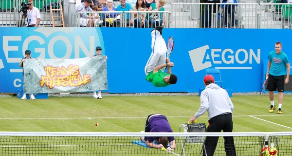
[[[268,113],[270,101],[268,95],[235,95],[231,98],[235,106],[233,113],[234,132],[287,132],[292,130],[292,95],[285,95],[282,106],[283,114]],[[277,105],[277,96],[275,96]],[[49,97],[49,99],[20,100],[19,98],[0,98],[0,132],[140,132],[144,130],[146,117],[150,114],[164,114],[173,131],[179,132],[183,122],[193,116],[200,107],[199,96],[140,96],[115,97],[104,96],[103,99],[92,97]],[[199,122],[208,124],[207,112],[198,118]],[[98,122],[99,126],[95,126]],[[20,137],[19,137],[20,138]],[[47,146],[46,140],[12,138],[14,145],[3,144],[5,138],[0,138],[0,151],[3,156],[38,155],[38,150],[44,151],[43,156],[50,155],[104,155],[108,156],[174,156],[157,149],[147,149],[130,143],[139,137],[118,139],[111,145],[113,139],[103,137],[88,137],[84,142],[92,142],[90,147],[79,147],[74,142],[81,138],[56,137],[60,141],[68,141],[66,146],[59,144]],[[9,138],[11,139],[11,138]],[[279,151],[281,156],[291,155],[291,136],[281,136]],[[28,141],[32,140],[32,141]],[[4,141],[5,142],[5,141]],[[181,154],[181,140],[176,137],[176,151]],[[235,137],[237,156],[259,155],[263,143],[258,137]],[[48,143],[49,144],[49,143]],[[62,143],[61,143],[62,144]],[[94,144],[94,145],[93,145]],[[108,148],[109,146],[116,146]],[[224,140],[219,138],[216,156],[225,156]],[[7,147],[6,147],[7,146]],[[11,147],[10,147],[11,146]],[[13,147],[12,147],[13,146]],[[68,148],[68,147],[78,148]],[[124,147],[122,147],[124,146]],[[246,153],[244,148],[249,149]],[[9,148],[8,148],[9,147]],[[20,151],[17,147],[21,147]],[[23,148],[25,147],[25,148]],[[132,149],[134,147],[135,149]],[[22,154],[25,149],[27,154]],[[78,151],[82,149],[81,151]],[[201,144],[188,144],[186,154],[198,155]],[[285,150],[284,150],[285,149]],[[65,150],[65,151],[64,151]],[[77,150],[77,151],[76,151]],[[86,150],[88,153],[83,153]],[[15,152],[16,153],[12,153]],[[110,151],[110,152],[109,152]]]

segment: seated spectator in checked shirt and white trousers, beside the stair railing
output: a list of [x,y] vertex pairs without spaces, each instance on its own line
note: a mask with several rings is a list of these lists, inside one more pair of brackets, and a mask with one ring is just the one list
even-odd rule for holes
[[[92,1],[91,0],[84,0],[79,6],[76,7],[75,13],[77,12],[92,12],[93,10],[91,7]],[[94,26],[94,15],[91,13],[91,16],[87,15],[86,13],[80,13],[79,14],[79,24],[80,26],[87,26],[87,27],[93,27]]]

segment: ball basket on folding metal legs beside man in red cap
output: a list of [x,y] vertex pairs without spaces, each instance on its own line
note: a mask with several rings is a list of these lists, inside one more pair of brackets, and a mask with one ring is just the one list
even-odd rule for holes
[[[181,128],[183,127],[183,132],[207,132],[206,124],[204,123],[183,123],[180,126],[179,131],[181,132]],[[185,143],[204,143],[204,137],[181,137],[182,143],[182,153],[181,156],[185,156]],[[201,153],[205,151],[204,144],[202,145]],[[200,156],[201,156],[200,153]]]

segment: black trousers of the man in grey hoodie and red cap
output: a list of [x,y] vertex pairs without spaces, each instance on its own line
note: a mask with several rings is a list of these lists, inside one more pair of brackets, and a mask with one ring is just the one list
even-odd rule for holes
[[[232,132],[233,122],[232,114],[224,114],[212,117],[209,120],[208,132]],[[213,156],[217,147],[219,137],[206,137],[204,142],[205,150],[203,156]],[[235,145],[233,137],[224,137],[224,145],[226,156],[236,156]],[[205,154],[207,153],[207,155]]]

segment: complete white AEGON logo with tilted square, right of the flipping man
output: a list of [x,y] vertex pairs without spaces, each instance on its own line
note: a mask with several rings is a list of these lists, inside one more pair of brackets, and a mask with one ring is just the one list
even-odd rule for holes
[[260,49],[209,49],[209,45],[189,51],[189,56],[194,72],[212,67],[218,64],[217,69],[252,69],[255,61],[260,63]]

